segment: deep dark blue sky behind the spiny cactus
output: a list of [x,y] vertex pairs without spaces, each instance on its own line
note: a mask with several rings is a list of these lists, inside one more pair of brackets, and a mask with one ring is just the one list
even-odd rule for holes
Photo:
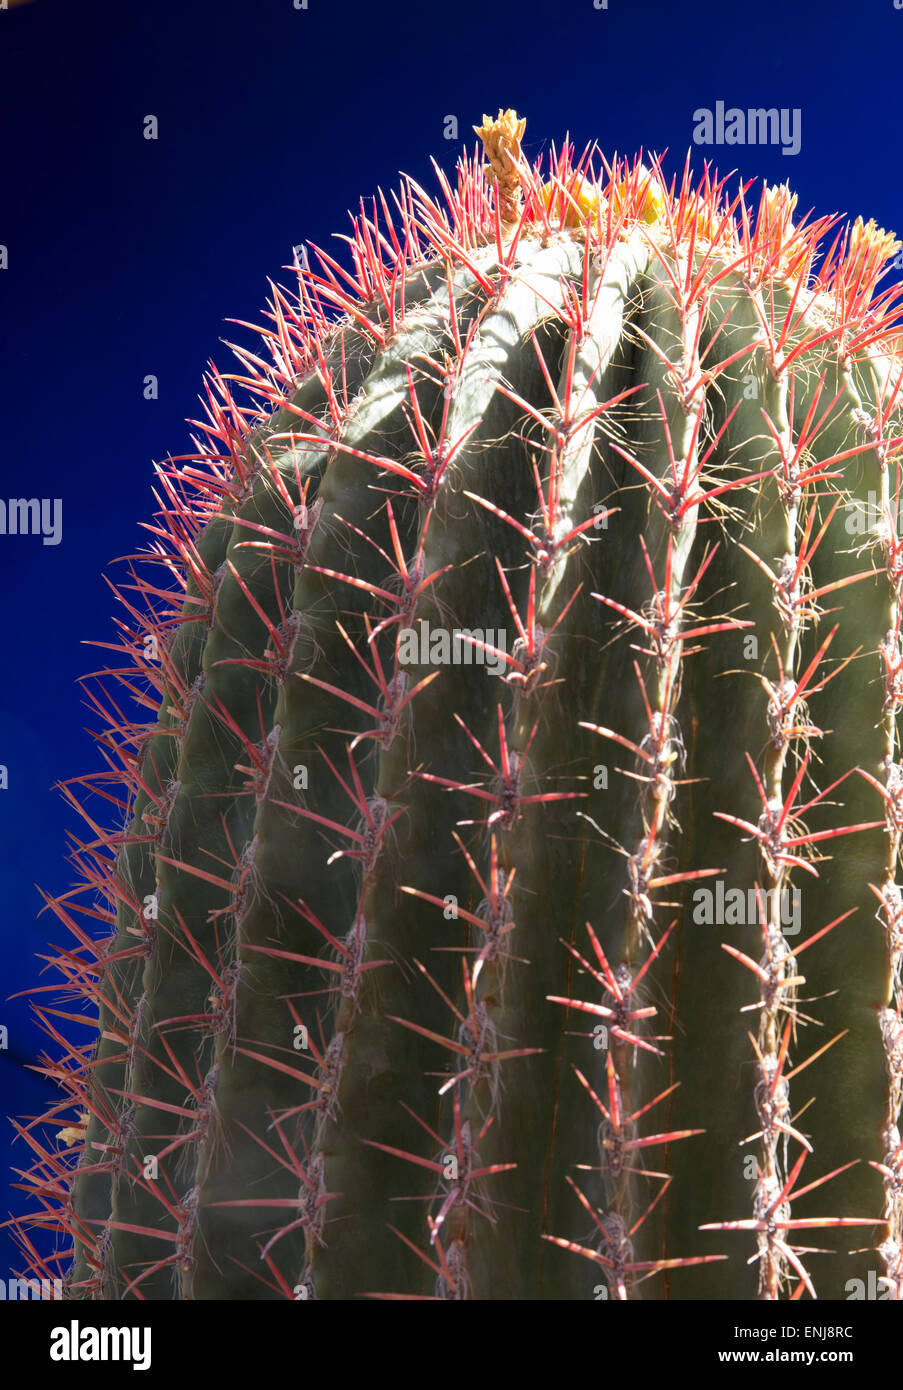
[[[499,106],[527,115],[529,156],[570,131],[607,157],[667,147],[674,172],[693,111],[720,100],[797,110],[800,149],[693,147],[699,172],[711,158],[789,179],[800,210],[903,229],[893,0],[295,3],[0,8],[0,498],[63,500],[58,545],[0,535],[0,1116],[51,1097],[24,1066],[43,1047],[28,1004],[4,997],[65,940],[35,885],[74,883],[65,834],[81,823],[53,784],[100,766],[75,681],[106,660],[81,644],[115,641],[104,570],[147,543],[151,461],[192,448],[207,361],[229,371],[219,339],[251,341],[225,320],[260,318],[295,243],[328,246],[400,170],[432,189],[429,157],[452,171]],[[11,1133],[3,1122],[0,1219],[21,1209],[4,1187],[25,1163]],[[17,1265],[0,1232],[0,1276]]]

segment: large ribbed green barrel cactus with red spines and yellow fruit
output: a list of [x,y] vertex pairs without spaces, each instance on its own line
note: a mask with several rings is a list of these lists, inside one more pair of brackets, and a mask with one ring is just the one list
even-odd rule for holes
[[74,1300],[903,1291],[899,245],[522,133],[157,467],[17,1126]]

